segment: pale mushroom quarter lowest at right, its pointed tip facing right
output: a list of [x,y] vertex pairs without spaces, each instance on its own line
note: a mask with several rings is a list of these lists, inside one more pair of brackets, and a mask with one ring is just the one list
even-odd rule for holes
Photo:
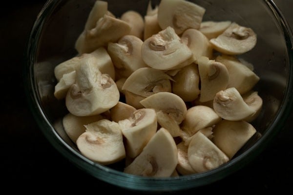
[[229,157],[201,132],[191,139],[187,154],[192,169],[198,173],[215,169],[229,161]]

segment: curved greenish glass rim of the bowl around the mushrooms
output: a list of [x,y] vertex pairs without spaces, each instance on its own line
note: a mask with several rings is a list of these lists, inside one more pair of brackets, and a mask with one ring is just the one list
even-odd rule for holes
[[[289,57],[288,63],[293,64],[293,36],[291,29],[283,14],[276,6],[276,4],[273,2],[273,0],[263,1],[272,11],[274,19],[277,21],[279,27],[283,32],[283,37],[287,45],[287,55]],[[38,45],[38,38],[40,38],[41,35],[41,29],[45,22],[45,16],[52,13],[54,8],[60,2],[61,1],[59,0],[48,0],[42,7],[42,10],[37,16],[37,19],[35,20],[35,23],[31,29],[31,33],[29,35],[24,50],[25,53],[23,72],[26,74],[23,75],[23,79],[25,85],[25,94],[33,117],[37,121],[37,124],[41,129],[43,135],[49,140],[51,145],[65,158],[72,162],[75,166],[84,170],[87,174],[91,176],[94,176],[112,185],[135,191],[179,191],[208,185],[226,176],[229,176],[230,174],[240,170],[242,167],[250,163],[256,156],[258,156],[264,150],[263,145],[268,145],[272,141],[272,138],[280,131],[280,127],[283,127],[285,125],[287,118],[292,113],[293,101],[290,100],[293,98],[293,68],[289,66],[287,90],[282,102],[282,105],[286,104],[287,106],[280,107],[278,115],[274,119],[274,121],[278,122],[272,122],[272,125],[268,128],[267,133],[260,137],[260,140],[262,141],[257,141],[243,154],[235,157],[233,160],[231,160],[223,166],[220,166],[208,172],[189,176],[149,178],[143,176],[129,175],[108,168],[104,165],[94,163],[93,161],[87,159],[86,157],[78,153],[76,150],[71,148],[56,132],[53,125],[46,118],[45,113],[42,111],[42,105],[39,101],[40,98],[38,97],[38,89],[35,84],[34,64],[37,51],[34,45]],[[280,117],[279,115],[282,115],[283,117]],[[247,154],[250,154],[249,159],[245,158]],[[92,170],[93,168],[95,169],[95,171]],[[194,180],[197,180],[197,182],[194,182]]]

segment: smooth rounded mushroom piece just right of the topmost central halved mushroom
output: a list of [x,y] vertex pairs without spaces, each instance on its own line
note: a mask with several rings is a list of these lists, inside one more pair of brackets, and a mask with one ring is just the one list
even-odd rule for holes
[[181,36],[182,41],[191,50],[193,56],[198,60],[201,56],[209,59],[213,57],[213,48],[209,39],[196,29],[187,29]]

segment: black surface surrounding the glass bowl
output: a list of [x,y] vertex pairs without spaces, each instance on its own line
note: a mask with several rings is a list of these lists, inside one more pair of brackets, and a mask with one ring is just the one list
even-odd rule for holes
[[[277,5],[293,26],[292,0],[277,0]],[[76,192],[87,189],[100,193],[134,194],[87,175],[63,157],[42,135],[23,89],[22,60],[29,32],[45,0],[8,2],[0,14],[1,47],[1,189],[22,192],[61,189]],[[291,191],[293,183],[293,115],[272,143],[248,166],[211,185],[191,189],[185,194],[236,193],[266,194]],[[13,188],[8,188],[14,184]],[[42,191],[43,191],[42,190]],[[172,193],[179,194],[179,193]]]

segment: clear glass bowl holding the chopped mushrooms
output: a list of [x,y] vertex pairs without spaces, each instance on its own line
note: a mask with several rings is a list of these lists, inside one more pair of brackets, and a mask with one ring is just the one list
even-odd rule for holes
[[[107,0],[108,10],[121,16],[127,10],[146,14],[148,0]],[[252,125],[258,131],[226,164],[204,173],[168,178],[133,176],[122,165],[104,166],[84,157],[67,137],[62,117],[65,103],[54,97],[57,80],[54,67],[77,54],[74,43],[95,0],[48,0],[32,28],[25,53],[24,81],[28,103],[42,133],[74,165],[110,184],[129,190],[164,192],[207,185],[246,166],[258,156],[283,128],[292,112],[292,33],[272,0],[193,0],[206,8],[203,20],[231,20],[250,27],[257,44],[241,55],[253,63],[260,81],[255,86],[263,98],[263,108]],[[158,5],[159,0],[152,0]],[[249,10],[249,11],[248,11]]]

